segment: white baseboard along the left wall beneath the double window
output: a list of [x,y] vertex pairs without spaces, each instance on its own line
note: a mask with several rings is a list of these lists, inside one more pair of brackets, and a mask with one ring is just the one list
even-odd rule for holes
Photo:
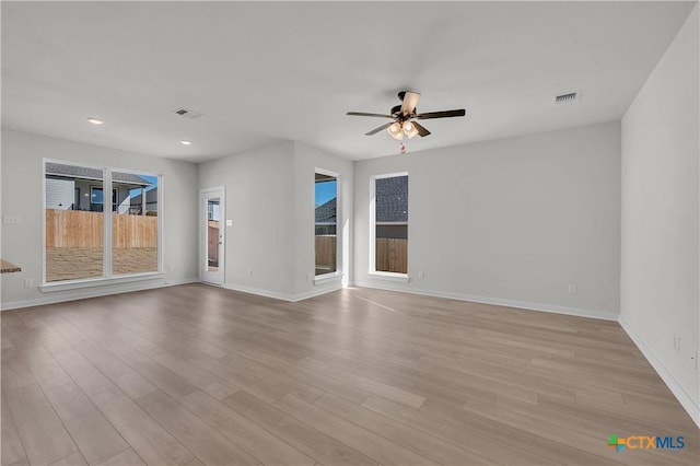
[[[80,289],[69,292],[56,292],[47,293],[42,298],[34,300],[11,301],[2,303],[0,311],[9,311],[22,307],[34,307],[46,304],[65,303],[68,301],[84,300],[88,298],[108,296],[112,294],[130,293],[133,291],[153,290],[155,288],[175,287],[178,284],[199,283],[199,278],[184,278],[177,280],[159,280],[159,281],[143,281],[143,282],[129,282],[118,284],[109,288],[95,287],[91,289]],[[60,294],[59,294],[60,293]]]

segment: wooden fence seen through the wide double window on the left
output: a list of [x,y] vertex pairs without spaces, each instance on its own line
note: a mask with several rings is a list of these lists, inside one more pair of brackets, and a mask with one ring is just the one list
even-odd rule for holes
[[[100,248],[103,213],[46,209],[46,247]],[[114,248],[158,247],[158,217],[112,215]]]

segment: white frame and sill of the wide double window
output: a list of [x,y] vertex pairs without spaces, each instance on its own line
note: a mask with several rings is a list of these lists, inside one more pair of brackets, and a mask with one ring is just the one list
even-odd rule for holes
[[[103,271],[102,277],[81,278],[77,280],[61,280],[61,281],[46,281],[46,164],[59,163],[61,165],[80,166],[85,168],[101,170],[102,171],[102,194],[103,194],[103,241],[102,241],[102,264]],[[115,276],[112,271],[112,207],[105,209],[104,194],[112,193],[112,173],[131,173],[135,175],[148,175],[158,177],[158,270],[148,272],[137,272],[128,275]],[[92,196],[92,187],[90,189]],[[112,206],[112,198],[109,201]],[[52,291],[66,291],[80,288],[100,287],[105,284],[128,283],[133,281],[159,279],[164,276],[163,273],[163,175],[151,173],[145,170],[132,170],[132,168],[119,168],[113,166],[100,166],[90,163],[57,160],[57,159],[43,159],[42,163],[42,284],[39,289],[43,292]]]

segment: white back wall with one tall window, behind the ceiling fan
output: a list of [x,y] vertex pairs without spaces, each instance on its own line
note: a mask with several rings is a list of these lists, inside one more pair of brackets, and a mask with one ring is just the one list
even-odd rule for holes
[[[368,273],[370,177],[404,171],[397,283]],[[357,284],[617,318],[619,123],[362,161],[354,176]]]

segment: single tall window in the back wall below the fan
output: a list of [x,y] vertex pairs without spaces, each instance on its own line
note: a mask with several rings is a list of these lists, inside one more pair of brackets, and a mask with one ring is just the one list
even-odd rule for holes
[[408,273],[408,174],[373,178],[371,271]]

